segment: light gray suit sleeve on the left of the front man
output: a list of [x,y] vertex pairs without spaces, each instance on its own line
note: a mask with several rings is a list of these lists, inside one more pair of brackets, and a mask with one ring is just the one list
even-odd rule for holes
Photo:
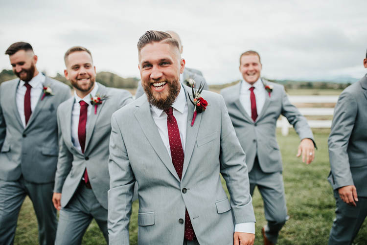
[[110,245],[129,244],[129,222],[135,177],[115,114],[111,119],[110,190],[108,191],[108,233]]

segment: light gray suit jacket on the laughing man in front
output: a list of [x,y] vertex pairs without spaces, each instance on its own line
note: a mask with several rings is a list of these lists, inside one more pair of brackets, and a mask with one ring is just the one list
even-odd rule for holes
[[[191,90],[186,86],[184,89]],[[184,219],[185,207],[200,244],[232,245],[234,224],[255,221],[245,154],[223,98],[209,91],[202,95],[209,106],[197,114],[193,127],[190,123],[194,106],[187,99],[181,180],[145,95],[113,114],[108,192],[110,245],[129,244],[135,181],[139,186],[139,244],[183,244],[184,224],[179,220]],[[230,202],[220,173],[227,182]]]

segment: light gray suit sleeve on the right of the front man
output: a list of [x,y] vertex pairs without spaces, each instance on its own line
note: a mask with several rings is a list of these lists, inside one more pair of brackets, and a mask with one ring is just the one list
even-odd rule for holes
[[221,174],[226,180],[234,223],[255,222],[245,153],[230,121],[221,96]]

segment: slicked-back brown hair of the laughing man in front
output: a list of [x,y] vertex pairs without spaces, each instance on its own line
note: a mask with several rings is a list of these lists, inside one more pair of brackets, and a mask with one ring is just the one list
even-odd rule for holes
[[144,35],[139,38],[138,51],[140,53],[140,50],[147,44],[160,43],[162,41],[180,49],[179,42],[176,39],[173,39],[167,32],[150,30],[145,32]]

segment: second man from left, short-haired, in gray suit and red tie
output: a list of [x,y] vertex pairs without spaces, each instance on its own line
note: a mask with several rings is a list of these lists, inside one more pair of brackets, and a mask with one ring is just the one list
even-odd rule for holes
[[81,244],[93,218],[108,241],[111,116],[133,99],[126,90],[95,82],[96,71],[88,49],[69,48],[65,65],[65,77],[74,88],[74,97],[57,110],[61,139],[52,200],[60,216],[55,244]]

